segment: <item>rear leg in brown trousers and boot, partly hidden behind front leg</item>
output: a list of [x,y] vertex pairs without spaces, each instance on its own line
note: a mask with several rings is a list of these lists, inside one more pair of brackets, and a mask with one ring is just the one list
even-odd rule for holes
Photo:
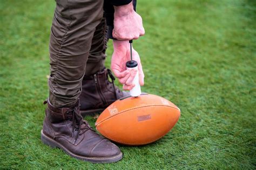
[[106,32],[106,21],[103,18],[93,34],[82,83],[82,94],[79,97],[83,115],[103,111],[118,98],[129,95],[114,86],[114,77],[111,71],[105,68],[105,52],[107,48]]

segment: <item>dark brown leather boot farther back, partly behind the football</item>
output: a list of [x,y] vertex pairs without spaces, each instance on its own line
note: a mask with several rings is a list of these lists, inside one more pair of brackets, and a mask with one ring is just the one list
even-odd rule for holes
[[84,76],[79,97],[83,116],[102,112],[114,101],[130,95],[114,86],[114,80],[111,70],[106,68],[94,75]]

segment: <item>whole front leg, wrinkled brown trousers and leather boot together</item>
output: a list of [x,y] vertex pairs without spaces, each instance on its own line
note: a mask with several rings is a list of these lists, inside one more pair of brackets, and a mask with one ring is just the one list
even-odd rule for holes
[[41,139],[78,159],[118,161],[122,152],[83,120],[78,101],[92,37],[103,17],[103,1],[56,2],[50,38],[50,97]]

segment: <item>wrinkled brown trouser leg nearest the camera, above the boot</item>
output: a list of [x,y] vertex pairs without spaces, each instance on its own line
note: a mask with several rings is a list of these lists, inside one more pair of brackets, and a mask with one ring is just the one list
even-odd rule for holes
[[100,1],[57,1],[50,38],[50,102],[73,105],[81,84],[91,41],[103,17]]

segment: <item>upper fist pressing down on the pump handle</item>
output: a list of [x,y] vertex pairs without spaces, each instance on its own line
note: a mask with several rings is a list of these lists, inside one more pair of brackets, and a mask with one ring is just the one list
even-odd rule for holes
[[114,29],[112,36],[118,40],[138,39],[145,34],[142,17],[133,10],[132,2],[114,6]]

